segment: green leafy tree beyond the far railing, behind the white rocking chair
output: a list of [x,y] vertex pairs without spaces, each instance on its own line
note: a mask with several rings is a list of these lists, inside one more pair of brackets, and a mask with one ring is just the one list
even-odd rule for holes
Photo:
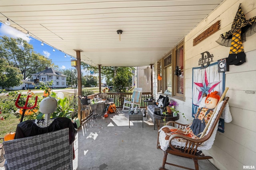
[[[93,70],[95,73],[99,72],[97,67],[86,63],[81,63],[81,65],[84,69]],[[108,86],[114,86],[114,91],[126,92],[127,87],[132,85],[132,70],[134,67],[102,66],[101,74],[106,77]]]

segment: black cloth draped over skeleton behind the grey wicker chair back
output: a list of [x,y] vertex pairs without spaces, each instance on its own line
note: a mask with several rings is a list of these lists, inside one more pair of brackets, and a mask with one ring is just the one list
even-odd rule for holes
[[35,120],[27,120],[19,123],[17,125],[14,139],[40,135],[43,133],[57,131],[68,127],[70,144],[75,140],[76,130],[74,129],[71,120],[66,117],[55,118],[48,127],[38,127],[34,122]]

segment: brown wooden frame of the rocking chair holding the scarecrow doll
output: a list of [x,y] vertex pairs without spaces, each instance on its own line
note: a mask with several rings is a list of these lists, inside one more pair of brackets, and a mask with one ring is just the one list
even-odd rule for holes
[[[166,149],[166,151],[164,151],[163,163],[162,163],[162,166],[159,168],[159,170],[167,170],[166,168],[164,168],[165,164],[177,166],[177,167],[188,169],[188,170],[193,170],[193,169],[185,167],[185,166],[180,166],[177,164],[171,164],[169,162],[166,162],[168,153],[176,155],[176,156],[182,156],[185,158],[192,158],[192,160],[194,161],[195,170],[198,170],[198,160],[212,158],[212,156],[205,156],[202,153],[202,151],[200,150],[200,147],[202,145],[204,145],[204,142],[206,142],[212,136],[212,133],[217,130],[215,127],[216,127],[216,125],[218,125],[218,121],[220,119],[220,116],[222,115],[222,112],[224,110],[224,107],[226,106],[226,103],[228,102],[228,99],[229,99],[228,97],[225,98],[218,115],[216,115],[216,119],[215,120],[212,119],[212,121],[214,121],[212,126],[211,127],[209,126],[207,129],[208,133],[206,133],[206,135],[202,134],[203,135],[202,138],[191,139],[189,137],[186,137],[186,136],[183,136],[180,134],[171,135],[171,137],[169,138],[169,147]],[[214,115],[212,115],[212,116],[214,116]],[[180,129],[188,127],[188,125],[177,123],[175,121],[169,121],[166,124],[170,124],[170,123],[177,124],[178,128],[180,128]],[[216,135],[216,133],[215,133],[215,135]],[[172,140],[175,140],[176,138],[184,139],[186,142],[184,143],[183,146],[172,145]],[[214,138],[215,138],[215,136],[214,136]],[[158,148],[161,149],[160,146],[158,146]]]

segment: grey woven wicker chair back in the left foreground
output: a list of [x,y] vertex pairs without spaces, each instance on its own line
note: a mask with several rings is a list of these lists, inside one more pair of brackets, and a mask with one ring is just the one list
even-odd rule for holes
[[72,170],[69,129],[4,141],[8,170]]

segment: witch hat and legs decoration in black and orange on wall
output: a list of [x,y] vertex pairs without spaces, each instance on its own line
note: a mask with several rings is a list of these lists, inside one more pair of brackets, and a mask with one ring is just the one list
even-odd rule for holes
[[245,61],[244,48],[242,41],[246,41],[246,36],[256,32],[256,17],[246,20],[241,4],[232,23],[231,30],[220,35],[216,41],[220,45],[230,47],[227,58],[228,65],[241,65]]

